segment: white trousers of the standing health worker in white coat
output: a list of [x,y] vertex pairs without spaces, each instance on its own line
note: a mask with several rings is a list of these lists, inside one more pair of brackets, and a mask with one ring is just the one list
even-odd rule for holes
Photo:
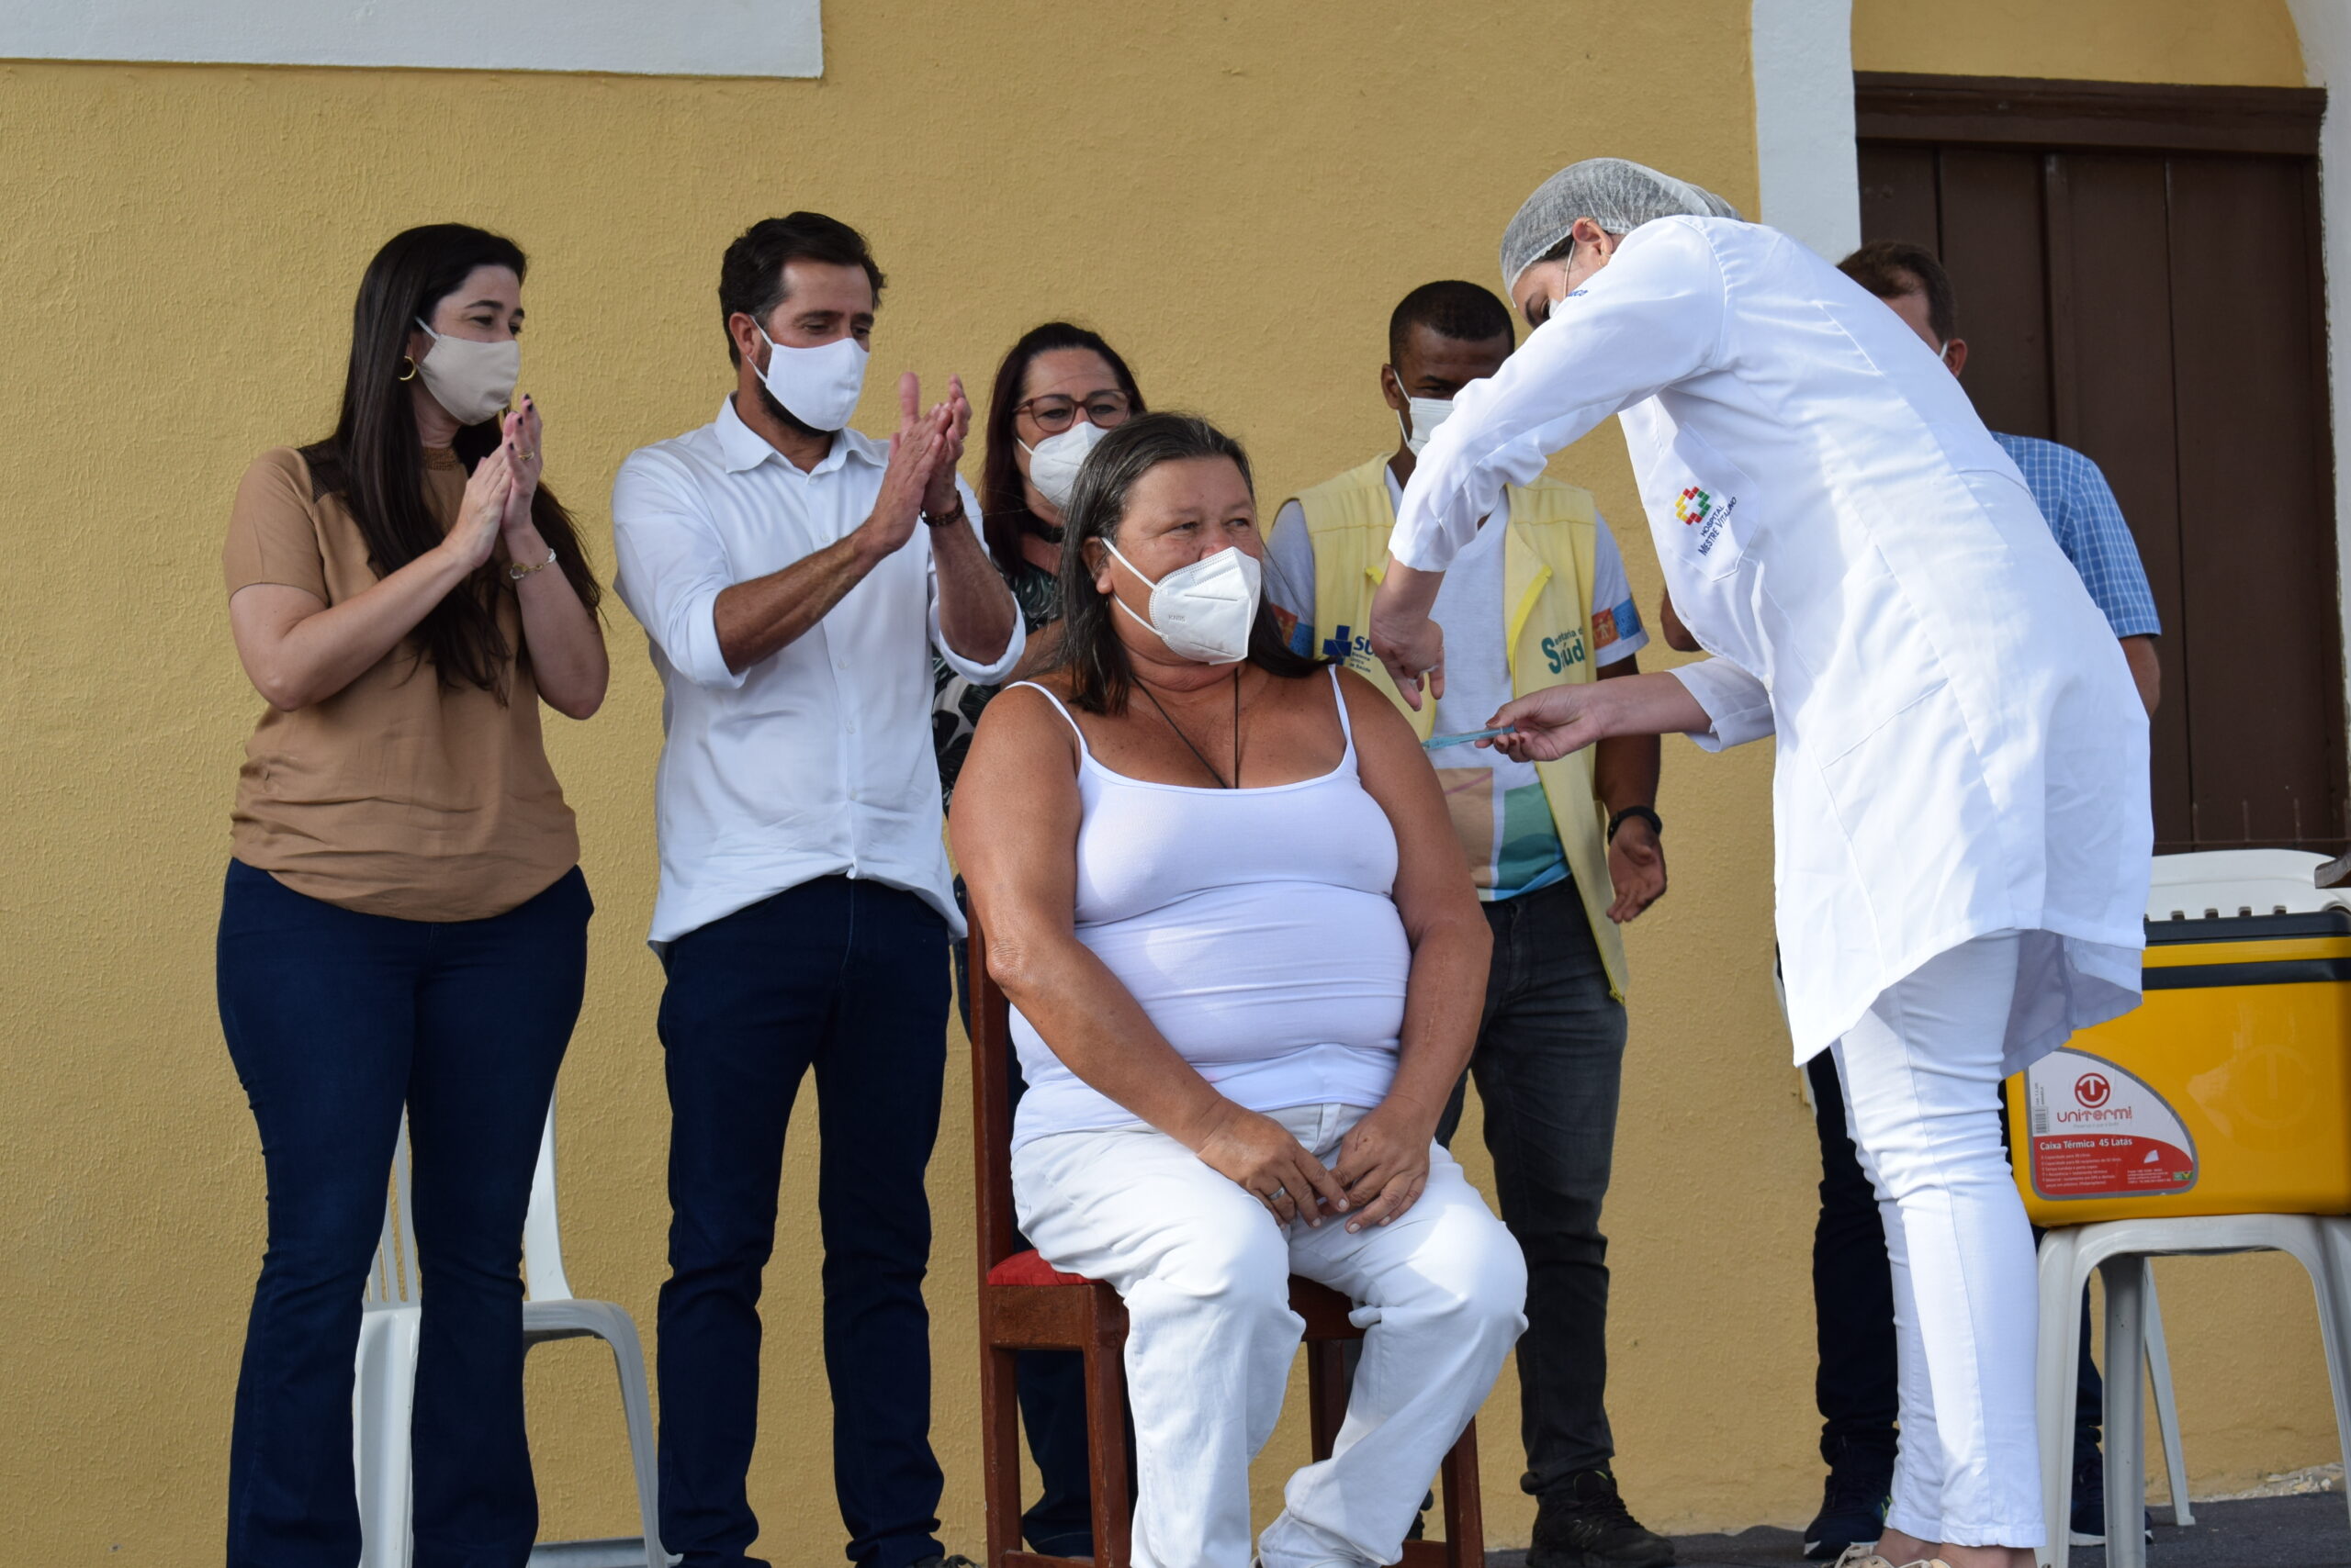
[[2034,1234],[2001,1147],[2017,936],[1951,947],[1836,1041],[1846,1128],[1895,1279],[1902,1446],[1886,1523],[1925,1542],[2041,1547]]

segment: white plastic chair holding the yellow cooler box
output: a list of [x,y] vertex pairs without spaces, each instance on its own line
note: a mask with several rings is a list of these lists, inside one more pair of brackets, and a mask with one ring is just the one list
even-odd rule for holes
[[[2309,914],[2351,905],[2351,893],[2313,886],[2325,856],[2292,849],[2215,849],[2156,856],[2146,917],[2224,919],[2243,914]],[[2184,1215],[2163,1220],[2099,1220],[2064,1225],[2041,1239],[2041,1359],[2036,1415],[2041,1422],[2041,1509],[2048,1521],[2050,1568],[2067,1568],[2074,1481],[2076,1356],[2081,1354],[2081,1293],[2097,1269],[2106,1281],[2106,1563],[2144,1568],[2146,1455],[2142,1432],[2142,1361],[2154,1380],[2156,1429],[2172,1483],[2172,1516],[2196,1523],[2189,1507],[2186,1455],[2172,1401],[2170,1354],[2156,1276],[2149,1258],[2191,1253],[2280,1251],[2302,1260],[2318,1293],[2318,1326],[2335,1382],[2335,1425],[2351,1460],[2351,1220],[2311,1215]]]

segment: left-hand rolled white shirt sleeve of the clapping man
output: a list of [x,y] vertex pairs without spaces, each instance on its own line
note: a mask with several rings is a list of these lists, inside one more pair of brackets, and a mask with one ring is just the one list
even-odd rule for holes
[[672,670],[734,691],[743,670],[719,651],[717,599],[734,588],[726,545],[694,482],[658,451],[632,451],[611,482],[614,590]]

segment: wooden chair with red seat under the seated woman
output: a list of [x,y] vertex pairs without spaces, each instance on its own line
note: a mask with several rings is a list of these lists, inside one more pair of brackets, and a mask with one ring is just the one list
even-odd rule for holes
[[[987,1497],[987,1568],[1077,1568],[1089,1559],[1020,1549],[1020,1427],[1013,1359],[1023,1349],[1074,1349],[1086,1361],[1086,1448],[1093,1465],[1096,1568],[1133,1561],[1126,1493],[1126,1302],[1098,1279],[1056,1272],[1034,1251],[1013,1253],[1011,1006],[987,978],[987,940],[971,922],[971,1107],[980,1211],[980,1450]],[[1345,1342],[1364,1331],[1352,1302],[1291,1276],[1291,1309],[1307,1321],[1307,1408],[1314,1458],[1331,1458],[1347,1418]],[[1404,1568],[1483,1568],[1476,1422],[1439,1469],[1446,1537],[1404,1542]]]

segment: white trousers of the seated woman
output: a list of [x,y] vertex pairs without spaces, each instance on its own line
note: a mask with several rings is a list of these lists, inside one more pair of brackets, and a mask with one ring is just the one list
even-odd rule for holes
[[[1317,1159],[1352,1105],[1274,1112]],[[1258,1199],[1152,1128],[1053,1133],[1013,1154],[1020,1229],[1044,1258],[1126,1300],[1136,1415],[1136,1568],[1248,1568],[1248,1460],[1274,1434],[1305,1324],[1291,1274],[1359,1305],[1364,1359],[1328,1460],[1284,1490],[1265,1568],[1394,1563],[1446,1450],[1526,1328],[1526,1260],[1462,1168],[1392,1225],[1286,1232]]]

